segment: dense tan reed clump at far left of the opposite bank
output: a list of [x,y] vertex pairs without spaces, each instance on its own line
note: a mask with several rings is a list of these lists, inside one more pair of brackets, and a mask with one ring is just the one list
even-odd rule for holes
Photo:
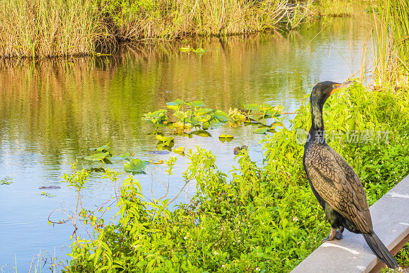
[[0,56],[89,55],[115,45],[93,0],[0,1]]

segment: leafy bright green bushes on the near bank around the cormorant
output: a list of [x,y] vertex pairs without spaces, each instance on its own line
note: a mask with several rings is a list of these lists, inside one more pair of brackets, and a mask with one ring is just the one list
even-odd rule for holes
[[[409,174],[408,96],[401,91],[372,92],[355,83],[326,104],[326,129],[337,136],[329,133],[328,142],[354,167],[370,204]],[[197,188],[189,204],[169,209],[171,201],[165,197],[147,202],[139,182],[129,176],[117,199],[115,221],[104,223],[94,212],[79,207],[71,221],[93,227],[94,236],[76,237],[65,270],[292,269],[320,244],[329,226],[308,186],[302,167],[303,145],[297,141],[297,132],[310,126],[309,107],[303,105],[290,122],[290,128],[263,140],[263,166],[252,162],[244,150],[230,176],[217,169],[211,152],[188,151],[190,163],[183,180],[196,183]],[[352,132],[360,137],[351,138]],[[169,175],[175,162],[175,158],[166,162]],[[73,166],[73,174],[64,177],[78,188],[80,196],[87,173]],[[112,170],[106,171],[106,178],[120,179]]]

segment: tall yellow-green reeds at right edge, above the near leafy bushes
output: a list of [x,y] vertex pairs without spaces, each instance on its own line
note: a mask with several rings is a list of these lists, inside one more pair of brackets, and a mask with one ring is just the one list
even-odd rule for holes
[[409,84],[409,0],[371,2],[376,86]]

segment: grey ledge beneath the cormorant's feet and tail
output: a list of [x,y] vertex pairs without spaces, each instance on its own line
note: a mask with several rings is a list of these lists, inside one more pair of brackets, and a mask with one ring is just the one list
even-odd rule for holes
[[[409,240],[409,175],[369,208],[374,232],[393,255]],[[325,242],[291,272],[379,272],[384,264],[363,236],[345,230],[342,240]]]

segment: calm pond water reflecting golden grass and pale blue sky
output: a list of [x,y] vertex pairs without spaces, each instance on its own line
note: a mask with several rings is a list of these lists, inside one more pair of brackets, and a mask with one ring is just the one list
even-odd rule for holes
[[[344,81],[358,71],[361,48],[368,25],[358,19],[339,18],[307,23],[287,34],[256,34],[225,39],[189,40],[191,47],[211,49],[204,55],[180,52],[184,44],[161,44],[125,49],[115,56],[94,59],[3,62],[0,68],[0,272],[28,271],[40,251],[66,260],[73,226],[49,226],[56,208],[73,211],[74,188],[61,183],[78,160],[80,167],[98,167],[86,161],[88,149],[111,141],[113,154],[157,161],[178,158],[170,177],[169,198],[184,184],[181,173],[187,158],[176,154],[149,155],[156,150],[154,127],[141,117],[148,111],[165,109],[177,98],[203,100],[206,107],[227,112],[245,103],[282,104],[284,112],[296,110],[302,98],[319,81]],[[261,164],[263,135],[253,134],[253,125],[224,126],[210,130],[212,137],[175,136],[174,148],[195,145],[212,150],[219,169],[228,171],[234,162],[233,149],[243,144]],[[164,129],[161,129],[162,131]],[[165,131],[170,135],[170,131]],[[231,134],[231,142],[219,141]],[[106,165],[118,171],[124,162]],[[114,193],[110,181],[92,173],[82,199],[95,208]],[[146,174],[135,175],[147,198],[166,192],[165,165],[148,165]],[[40,190],[41,186],[61,186]],[[41,196],[41,192],[56,195]],[[189,194],[195,185],[189,185]],[[183,202],[186,194],[179,196]],[[112,211],[115,211],[112,209]],[[62,219],[61,213],[52,219]],[[109,215],[107,219],[109,220]],[[42,254],[42,256],[47,254]],[[48,256],[48,262],[50,262]],[[47,271],[47,264],[43,270]]]

